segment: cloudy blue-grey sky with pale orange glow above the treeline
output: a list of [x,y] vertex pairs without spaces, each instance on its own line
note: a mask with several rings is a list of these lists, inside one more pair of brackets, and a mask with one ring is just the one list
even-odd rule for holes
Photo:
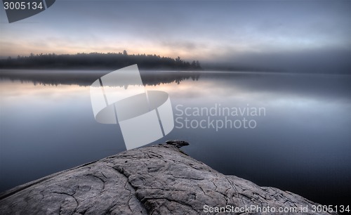
[[201,63],[351,68],[351,1],[81,1],[8,23],[0,57],[147,53]]

